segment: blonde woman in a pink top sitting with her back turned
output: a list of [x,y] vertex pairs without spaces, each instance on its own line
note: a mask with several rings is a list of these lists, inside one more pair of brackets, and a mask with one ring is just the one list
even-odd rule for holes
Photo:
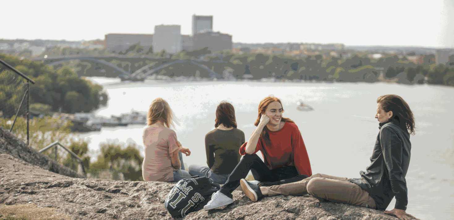
[[182,153],[189,156],[191,151],[182,147],[175,131],[169,128],[174,125],[173,113],[167,101],[162,98],[153,100],[148,110],[147,124],[143,130],[143,180],[178,182],[191,177],[184,170],[182,158]]

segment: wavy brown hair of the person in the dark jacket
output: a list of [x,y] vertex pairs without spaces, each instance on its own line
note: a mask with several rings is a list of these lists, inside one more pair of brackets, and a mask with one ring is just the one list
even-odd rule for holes
[[385,112],[393,112],[393,119],[399,121],[401,127],[409,130],[410,135],[415,135],[415,117],[410,106],[399,95],[382,95],[377,98],[377,103]]

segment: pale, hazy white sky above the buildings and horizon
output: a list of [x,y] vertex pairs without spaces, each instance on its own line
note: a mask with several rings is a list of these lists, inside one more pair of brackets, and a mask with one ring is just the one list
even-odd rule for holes
[[1,3],[1,39],[94,40],[108,33],[153,34],[213,15],[234,42],[308,42],[454,48],[454,0],[24,0]]

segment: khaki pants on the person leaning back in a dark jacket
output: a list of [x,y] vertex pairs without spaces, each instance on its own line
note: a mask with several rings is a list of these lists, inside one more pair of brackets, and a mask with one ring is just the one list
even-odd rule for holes
[[261,187],[260,189],[264,195],[268,196],[309,193],[321,201],[328,200],[375,209],[377,206],[369,193],[347,179],[326,174],[315,174],[298,182]]

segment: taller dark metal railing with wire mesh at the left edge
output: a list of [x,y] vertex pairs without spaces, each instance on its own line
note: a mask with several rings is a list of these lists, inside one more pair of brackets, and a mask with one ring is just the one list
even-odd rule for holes
[[[30,79],[28,76],[25,74],[21,73],[19,70],[16,70],[14,67],[9,65],[3,60],[0,60],[0,63],[6,67],[9,70],[12,70],[15,72],[15,74],[10,74],[8,71],[3,71],[2,69],[3,66],[0,66],[0,82],[1,82],[1,91],[0,95],[3,97],[0,97],[1,100],[5,101],[2,103],[0,106],[0,117],[11,117],[12,115],[15,115],[14,121],[12,121],[10,132],[13,130],[14,125],[16,123],[16,120],[19,116],[25,116],[27,118],[27,145],[30,144],[30,83],[35,84],[35,81]],[[25,82],[23,81],[25,80]],[[18,102],[16,100],[19,100],[18,93],[20,94],[21,92],[24,92],[24,95],[22,95],[22,99],[20,101],[19,107],[17,107]],[[26,110],[22,106],[24,105],[24,102],[26,102]],[[17,108],[17,109],[16,109]]]

